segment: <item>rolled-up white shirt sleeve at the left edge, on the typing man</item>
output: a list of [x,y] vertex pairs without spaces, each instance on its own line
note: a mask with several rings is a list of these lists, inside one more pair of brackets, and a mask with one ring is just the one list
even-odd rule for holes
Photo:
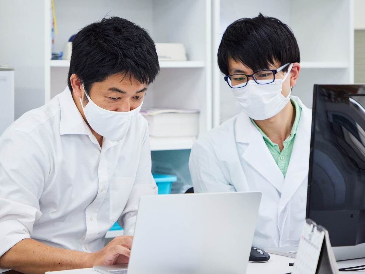
[[44,151],[28,133],[11,130],[0,137],[0,256],[31,237],[42,215],[47,166]]

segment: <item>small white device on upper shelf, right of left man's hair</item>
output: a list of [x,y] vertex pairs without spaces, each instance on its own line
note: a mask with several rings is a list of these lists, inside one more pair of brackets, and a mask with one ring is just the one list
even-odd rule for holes
[[158,61],[186,61],[185,46],[175,43],[156,43]]

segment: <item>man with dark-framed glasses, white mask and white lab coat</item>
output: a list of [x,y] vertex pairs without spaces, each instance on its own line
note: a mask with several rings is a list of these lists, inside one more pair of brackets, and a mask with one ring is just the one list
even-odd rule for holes
[[200,137],[189,161],[196,193],[262,192],[253,240],[262,248],[298,244],[306,215],[312,112],[291,96],[299,62],[280,20],[260,14],[228,26],[218,65],[242,111]]

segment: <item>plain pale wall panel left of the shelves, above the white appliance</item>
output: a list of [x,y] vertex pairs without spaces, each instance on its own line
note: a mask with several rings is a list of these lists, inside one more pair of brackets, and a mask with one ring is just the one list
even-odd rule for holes
[[44,13],[42,0],[0,0],[0,63],[15,68],[15,119],[44,104]]

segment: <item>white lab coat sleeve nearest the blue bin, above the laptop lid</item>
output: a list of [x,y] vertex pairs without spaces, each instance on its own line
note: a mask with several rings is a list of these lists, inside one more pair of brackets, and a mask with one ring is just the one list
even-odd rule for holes
[[189,170],[195,193],[236,191],[223,174],[215,150],[207,140],[197,140],[191,149]]

